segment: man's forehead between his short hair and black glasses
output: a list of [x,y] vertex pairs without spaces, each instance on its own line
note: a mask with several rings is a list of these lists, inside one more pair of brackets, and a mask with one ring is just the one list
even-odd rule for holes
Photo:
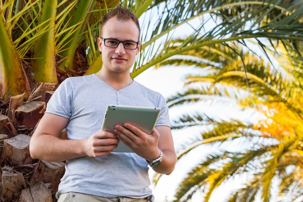
[[139,38],[139,29],[133,20],[120,21],[117,18],[111,18],[103,26],[102,32],[103,38],[133,41]]

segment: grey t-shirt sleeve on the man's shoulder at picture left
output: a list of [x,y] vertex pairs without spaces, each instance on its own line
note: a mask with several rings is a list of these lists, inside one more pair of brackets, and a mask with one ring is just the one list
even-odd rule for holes
[[44,113],[56,114],[70,119],[72,116],[72,98],[71,83],[65,79],[49,99]]

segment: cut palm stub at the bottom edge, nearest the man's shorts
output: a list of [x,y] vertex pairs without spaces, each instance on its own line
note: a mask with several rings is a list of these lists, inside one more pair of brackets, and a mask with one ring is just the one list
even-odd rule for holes
[[20,202],[52,202],[52,193],[43,182],[22,190]]

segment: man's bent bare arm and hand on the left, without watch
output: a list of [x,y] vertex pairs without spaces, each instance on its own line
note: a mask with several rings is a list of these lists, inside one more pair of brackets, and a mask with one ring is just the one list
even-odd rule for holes
[[119,140],[115,139],[113,133],[100,131],[83,140],[59,139],[59,134],[68,122],[67,118],[45,113],[30,140],[30,156],[33,159],[59,162],[84,156],[106,156],[118,146]]

